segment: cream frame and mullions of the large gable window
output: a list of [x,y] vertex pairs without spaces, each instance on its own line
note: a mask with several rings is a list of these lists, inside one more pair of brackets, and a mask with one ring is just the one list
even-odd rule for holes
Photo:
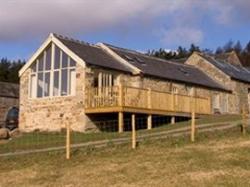
[[[55,69],[55,51],[56,48],[59,51],[59,68]],[[51,56],[51,62],[50,62],[50,68],[49,70],[46,70],[46,59],[47,59],[47,50],[50,50],[50,56]],[[62,68],[62,56],[66,56],[67,58],[67,67]],[[43,56],[43,70],[39,70],[39,58]],[[73,63],[72,63],[73,61]],[[35,64],[35,65],[34,65]],[[71,66],[73,64],[73,66]],[[56,97],[72,97],[76,95],[76,83],[72,83],[72,77],[71,72],[74,73],[74,80],[76,82],[76,65],[77,62],[72,59],[67,53],[65,53],[62,49],[60,49],[58,46],[56,46],[54,43],[51,43],[51,45],[47,48],[44,49],[44,51],[34,60],[30,67],[30,75],[29,75],[29,81],[28,81],[28,95],[29,99],[47,99],[47,98],[56,98]],[[35,71],[33,70],[35,66]],[[62,70],[67,70],[67,94],[62,95]],[[58,94],[54,95],[54,73],[58,72],[59,75],[59,80],[58,80]],[[38,74],[42,73],[43,74],[43,82],[42,82],[42,96],[38,97]],[[47,87],[48,89],[48,95],[45,94],[45,75],[49,73],[49,85]],[[35,79],[35,81],[32,82],[32,77]],[[34,78],[35,77],[35,78]],[[71,81],[71,82],[69,82]],[[33,93],[33,94],[32,94]]]

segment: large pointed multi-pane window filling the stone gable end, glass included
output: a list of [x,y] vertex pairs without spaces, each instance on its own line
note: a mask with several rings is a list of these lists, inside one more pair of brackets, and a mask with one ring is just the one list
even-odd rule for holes
[[30,97],[75,95],[75,67],[66,53],[49,46],[31,66]]

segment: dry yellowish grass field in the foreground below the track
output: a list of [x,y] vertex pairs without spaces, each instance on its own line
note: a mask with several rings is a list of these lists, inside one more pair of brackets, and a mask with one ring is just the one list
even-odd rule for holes
[[250,135],[238,128],[130,145],[0,158],[0,186],[250,186]]

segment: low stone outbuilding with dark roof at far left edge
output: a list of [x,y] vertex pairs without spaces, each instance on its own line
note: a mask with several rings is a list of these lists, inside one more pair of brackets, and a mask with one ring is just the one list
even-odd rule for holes
[[0,82],[0,126],[4,123],[8,111],[19,106],[19,85]]

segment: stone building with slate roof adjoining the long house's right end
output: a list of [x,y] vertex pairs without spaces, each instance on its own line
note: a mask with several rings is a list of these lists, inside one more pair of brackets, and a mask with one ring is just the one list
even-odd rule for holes
[[214,95],[214,108],[220,113],[240,113],[242,107],[249,111],[250,69],[243,67],[235,52],[222,55],[194,53],[186,61],[205,72],[209,77],[224,85],[230,94]]

